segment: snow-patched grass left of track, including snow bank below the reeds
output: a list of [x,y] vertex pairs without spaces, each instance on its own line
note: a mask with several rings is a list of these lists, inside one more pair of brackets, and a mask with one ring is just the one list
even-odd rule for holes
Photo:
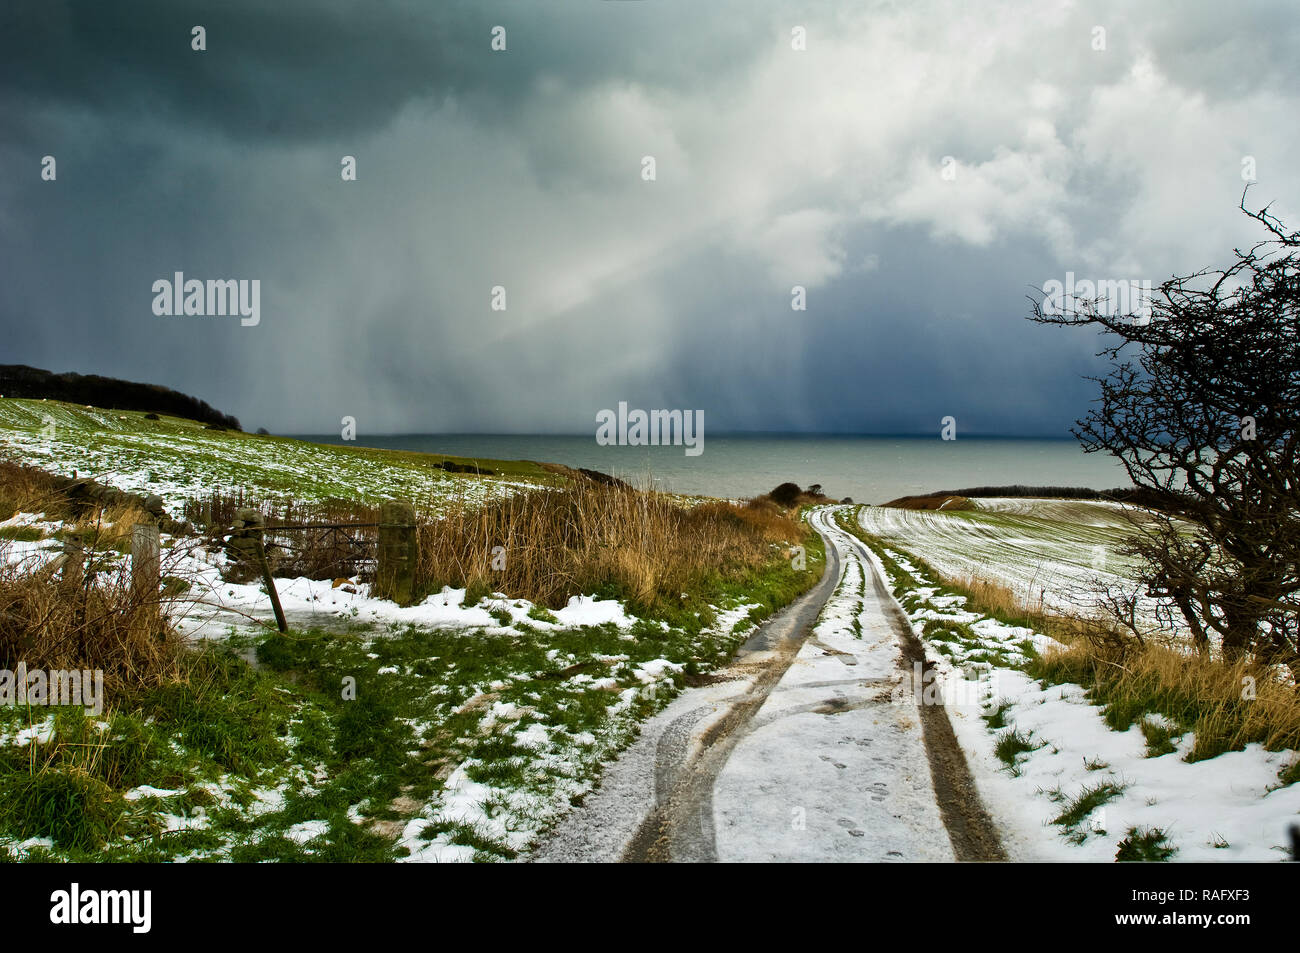
[[[0,567],[34,571],[58,554],[57,523],[21,514],[5,525],[43,538],[0,538]],[[222,579],[226,553],[166,534],[162,553],[166,577],[186,582],[164,612],[194,641],[202,685],[90,712],[0,705],[0,863],[515,858],[641,720],[770,611],[718,595],[710,625],[682,628],[589,594],[547,610],[445,586],[398,607],[359,580],[299,577],[277,580],[286,637],[257,624],[270,614],[259,584]],[[348,680],[355,696],[341,690]],[[182,703],[148,707],[156,697]],[[49,794],[48,810],[13,807],[16,790],[87,777],[57,754],[87,738],[96,764],[130,764],[87,781],[92,806]],[[47,764],[38,781],[31,763]]]

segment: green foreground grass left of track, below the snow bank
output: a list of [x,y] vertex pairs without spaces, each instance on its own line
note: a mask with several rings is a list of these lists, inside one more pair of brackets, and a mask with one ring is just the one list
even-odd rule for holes
[[[754,605],[750,619],[763,618],[815,581],[822,558],[796,572],[774,554],[689,603]],[[690,612],[689,624],[630,631],[231,633],[186,655],[177,683],[101,719],[61,710],[48,744],[0,745],[0,850],[49,837],[27,859],[393,861],[395,833],[428,811],[430,837],[508,859],[524,846],[508,829],[545,828],[580,801],[640,722],[725,663],[746,628],[714,632]],[[644,684],[637,670],[655,659],[681,672]],[[22,718],[0,711],[0,733]],[[481,823],[439,813],[455,770],[491,788]],[[125,797],[142,784],[162,793]],[[295,841],[304,822],[324,832]]]

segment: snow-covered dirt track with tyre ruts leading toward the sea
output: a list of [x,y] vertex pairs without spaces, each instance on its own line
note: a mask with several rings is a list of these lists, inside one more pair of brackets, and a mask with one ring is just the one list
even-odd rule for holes
[[646,723],[533,859],[1002,858],[872,556],[832,511],[811,521],[822,581]]

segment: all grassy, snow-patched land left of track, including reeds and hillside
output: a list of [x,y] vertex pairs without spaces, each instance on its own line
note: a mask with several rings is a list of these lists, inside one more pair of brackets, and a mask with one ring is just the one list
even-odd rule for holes
[[[157,493],[177,514],[213,491],[295,506],[404,497],[425,519],[426,577],[410,607],[360,577],[282,579],[294,627],[268,633],[256,619],[269,598],[225,577],[220,543],[165,536],[165,610],[243,614],[196,642],[140,628],[156,595],[129,585],[118,532],[138,504],[75,517],[18,504],[0,537],[0,668],[108,670],[108,706],[0,707],[0,861],[519,857],[644,718],[824,566],[820,538],[772,503],[641,494],[533,463],[451,475],[433,464],[469,462],[39,400],[0,400],[0,443],[27,467]],[[13,499],[39,489],[22,467],[4,475]],[[46,564],[78,527],[103,551],[95,580],[69,586]]]

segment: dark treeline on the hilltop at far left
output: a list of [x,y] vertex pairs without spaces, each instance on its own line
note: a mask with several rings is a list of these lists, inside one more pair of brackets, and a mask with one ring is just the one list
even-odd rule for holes
[[198,398],[156,384],[99,374],[56,374],[26,364],[0,364],[0,397],[46,398],[114,411],[144,411],[242,430],[239,421]]

